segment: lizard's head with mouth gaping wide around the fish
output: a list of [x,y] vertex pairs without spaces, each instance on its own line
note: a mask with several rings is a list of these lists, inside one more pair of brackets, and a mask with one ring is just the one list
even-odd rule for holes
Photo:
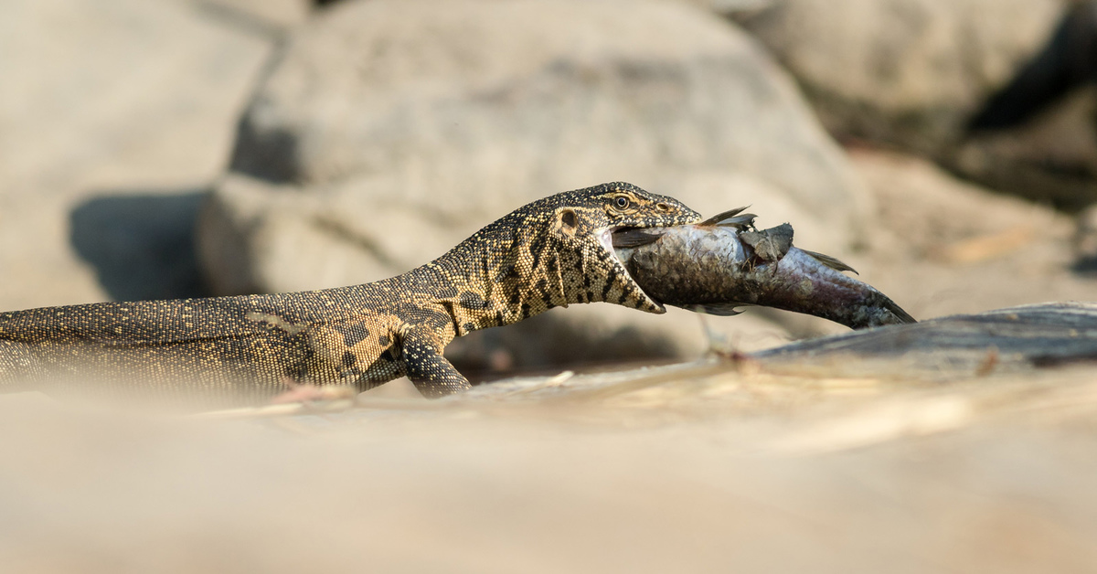
[[[558,281],[567,303],[604,301],[649,313],[666,311],[633,281],[613,250],[613,233],[697,223],[700,214],[674,198],[623,182],[568,191],[547,200],[552,207],[545,210],[551,217],[545,244],[556,251]],[[555,279],[548,277],[550,282]]]

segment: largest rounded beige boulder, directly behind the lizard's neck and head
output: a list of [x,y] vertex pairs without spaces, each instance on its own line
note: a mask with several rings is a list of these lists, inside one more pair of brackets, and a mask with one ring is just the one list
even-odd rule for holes
[[[199,237],[219,293],[377,280],[523,203],[604,181],[710,214],[754,204],[761,224],[793,222],[800,244],[838,255],[870,210],[764,50],[677,2],[337,3],[290,38],[231,170]],[[701,347],[695,317],[583,307],[508,329],[499,344],[514,352],[498,362],[551,362],[518,352],[548,333],[573,360]]]

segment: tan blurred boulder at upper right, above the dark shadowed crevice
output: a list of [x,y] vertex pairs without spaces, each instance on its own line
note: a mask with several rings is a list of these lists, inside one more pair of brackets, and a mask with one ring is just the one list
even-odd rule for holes
[[937,154],[1049,38],[1061,0],[776,0],[742,23],[840,138]]

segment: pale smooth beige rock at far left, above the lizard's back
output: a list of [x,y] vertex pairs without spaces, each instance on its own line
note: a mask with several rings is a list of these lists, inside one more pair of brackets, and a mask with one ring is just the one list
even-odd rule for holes
[[[102,255],[100,239],[146,249],[129,232],[151,227],[128,225],[146,209],[171,229],[184,223],[165,210],[193,222],[177,196],[223,169],[271,42],[176,0],[16,0],[3,14],[0,308],[132,294],[104,288],[103,257],[88,254]],[[139,210],[110,201],[134,194]],[[176,260],[193,277],[192,260]]]

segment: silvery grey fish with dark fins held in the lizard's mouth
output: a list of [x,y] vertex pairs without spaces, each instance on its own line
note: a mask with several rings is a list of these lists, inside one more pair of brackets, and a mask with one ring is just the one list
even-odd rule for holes
[[613,232],[613,249],[655,301],[711,315],[766,306],[851,329],[916,323],[840,260],[792,245],[792,225],[757,229],[747,207],[701,223]]

